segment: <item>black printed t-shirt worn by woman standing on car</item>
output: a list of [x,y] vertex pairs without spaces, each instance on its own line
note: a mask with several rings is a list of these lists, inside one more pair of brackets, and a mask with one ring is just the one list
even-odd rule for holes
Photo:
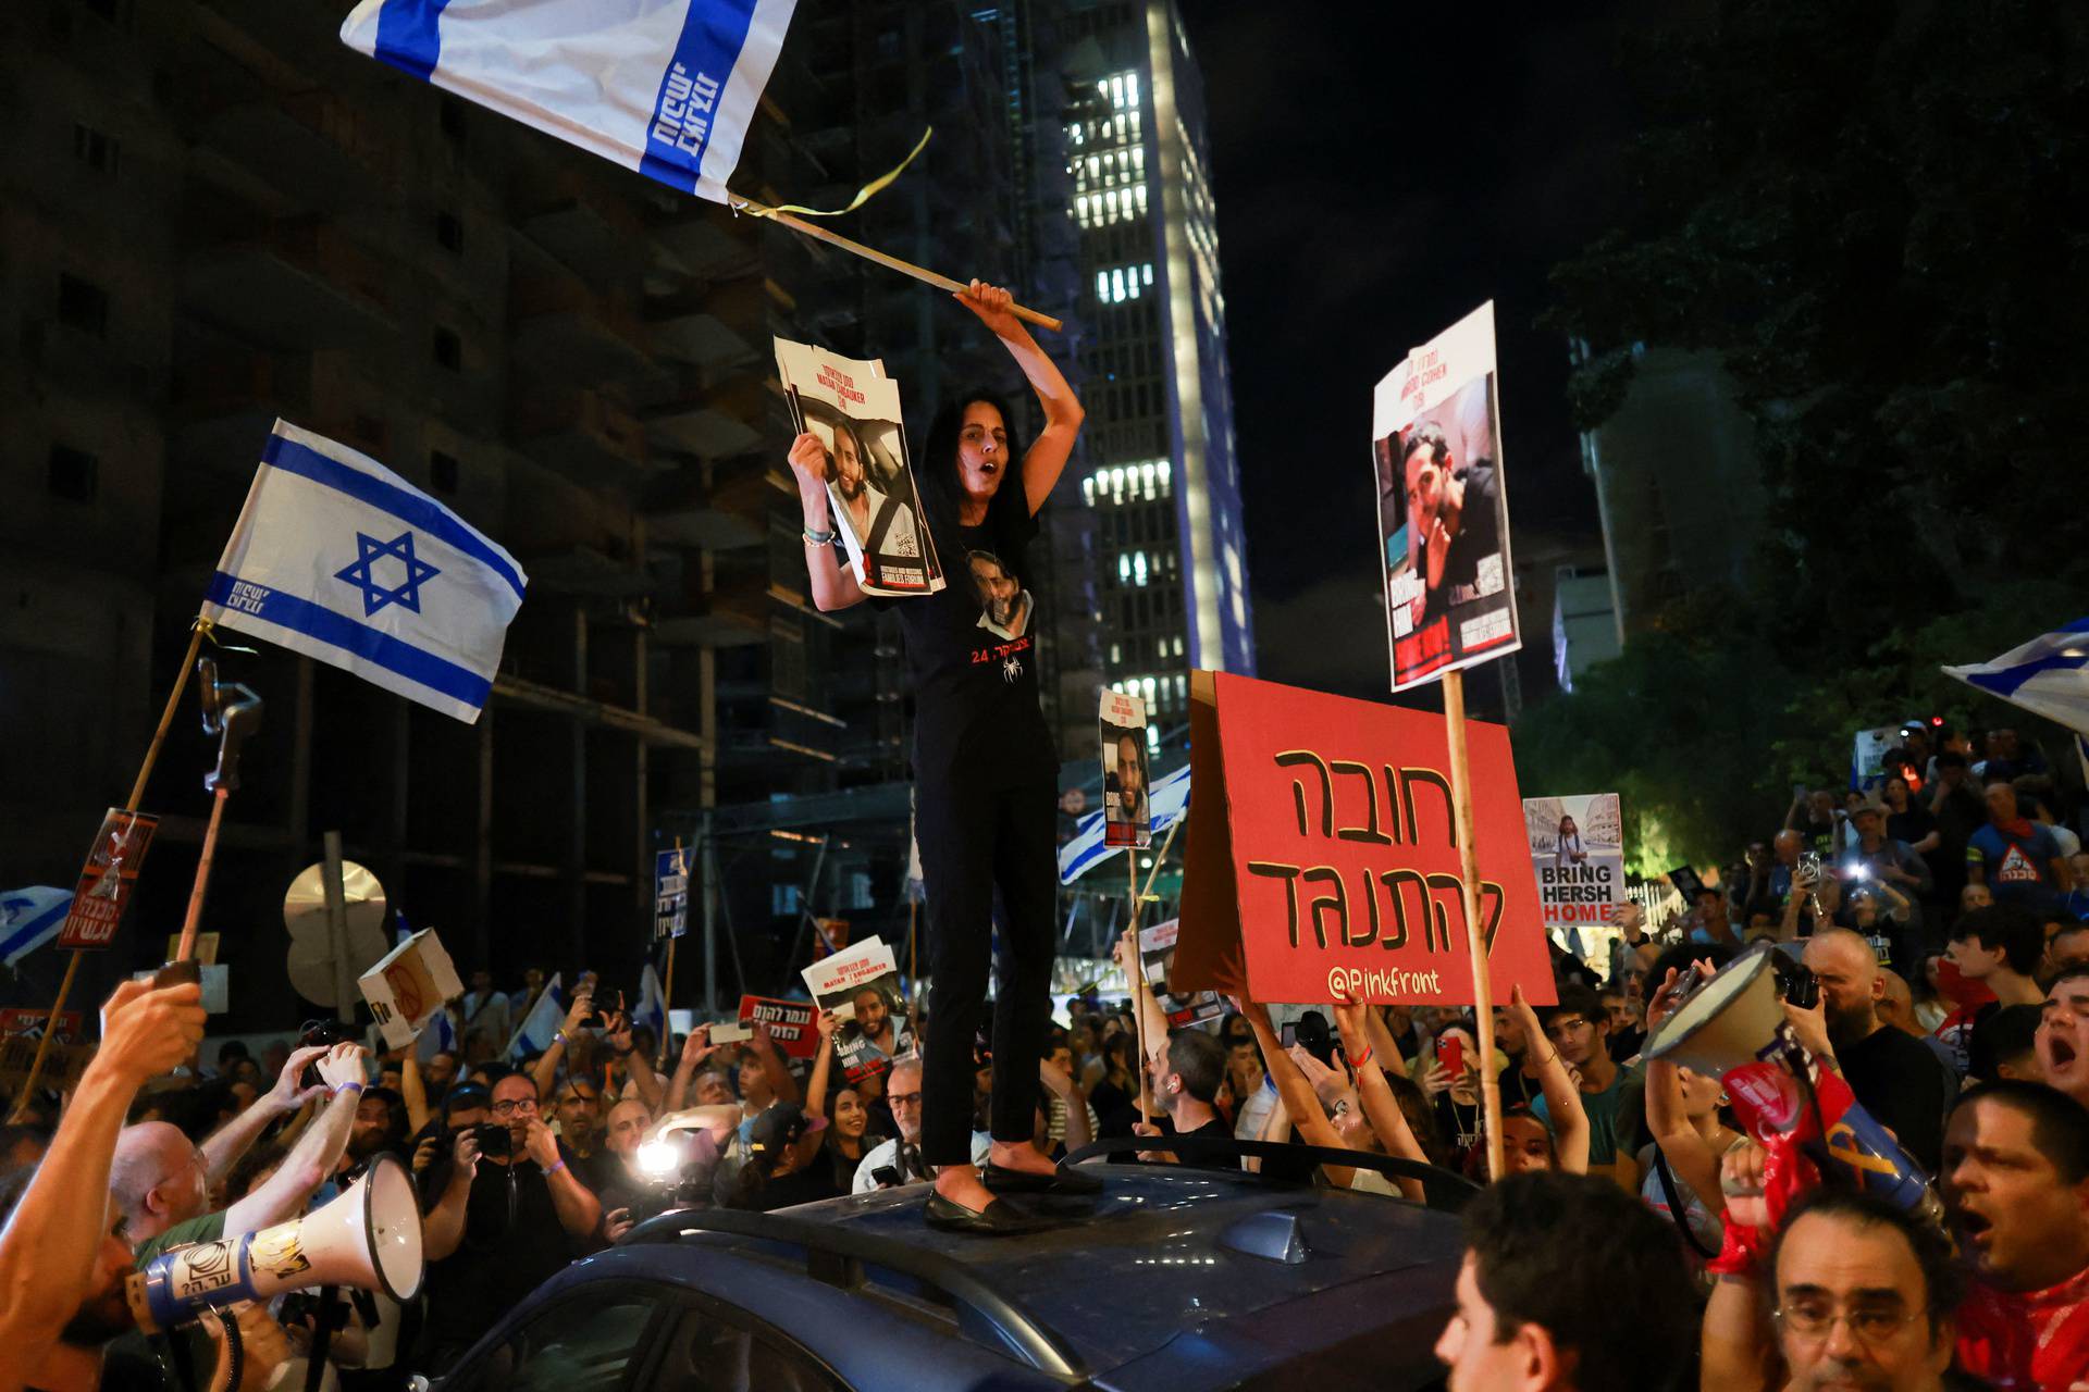
[[992,787],[1053,783],[1057,758],[1038,710],[1042,616],[1032,589],[1030,543],[1038,520],[1022,478],[1005,484],[980,526],[930,507],[944,589],[898,599],[915,693],[915,772],[938,783],[986,778]]

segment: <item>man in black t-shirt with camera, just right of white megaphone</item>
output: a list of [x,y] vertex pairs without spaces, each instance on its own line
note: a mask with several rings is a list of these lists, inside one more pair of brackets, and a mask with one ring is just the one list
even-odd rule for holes
[[455,1131],[422,1181],[424,1196],[441,1198],[424,1229],[428,1325],[414,1367],[432,1373],[579,1256],[602,1219],[572,1152],[539,1114],[531,1077],[493,1083],[489,1110],[491,1123]]

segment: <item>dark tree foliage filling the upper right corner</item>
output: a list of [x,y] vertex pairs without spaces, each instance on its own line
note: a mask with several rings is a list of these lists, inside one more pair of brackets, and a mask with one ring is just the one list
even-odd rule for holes
[[1757,591],[1665,614],[1517,741],[1533,791],[1623,778],[1627,818],[1719,864],[1859,726],[2037,728],[1937,666],[2089,611],[2089,6],[1692,15],[1632,40],[1632,207],[1554,269],[1548,323],[1590,344],[1583,424],[1634,342],[1726,363],[1769,493]]

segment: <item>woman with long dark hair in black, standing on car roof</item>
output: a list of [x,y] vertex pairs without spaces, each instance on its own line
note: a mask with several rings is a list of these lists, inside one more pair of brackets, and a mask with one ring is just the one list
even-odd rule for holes
[[[994,1202],[996,1192],[1097,1187],[1086,1175],[1057,1171],[1032,1137],[1036,1064],[1051,1021],[1059,764],[1038,710],[1028,545],[1074,451],[1082,409],[1009,311],[1007,290],[971,282],[957,301],[1022,367],[1044,409],[1044,430],[1015,457],[1001,401],[957,392],[930,426],[915,470],[921,518],[948,578],[936,595],[894,601],[915,687],[915,826],[934,995],[921,1060],[921,1156],[938,1167],[932,1225],[1009,1233],[1038,1223]],[[863,589],[831,545],[819,438],[800,434],[790,465],[804,505],[813,603],[829,611],[856,605]],[[982,1177],[971,1165],[971,1041],[984,1023],[996,891],[994,1144]]]

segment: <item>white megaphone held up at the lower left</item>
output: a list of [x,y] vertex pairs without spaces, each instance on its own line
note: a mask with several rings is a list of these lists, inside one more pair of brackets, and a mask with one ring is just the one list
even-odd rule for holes
[[127,1296],[138,1327],[152,1334],[186,1325],[207,1309],[315,1286],[382,1290],[403,1304],[420,1294],[420,1277],[414,1181],[397,1160],[378,1156],[318,1213],[161,1252],[130,1277]]

